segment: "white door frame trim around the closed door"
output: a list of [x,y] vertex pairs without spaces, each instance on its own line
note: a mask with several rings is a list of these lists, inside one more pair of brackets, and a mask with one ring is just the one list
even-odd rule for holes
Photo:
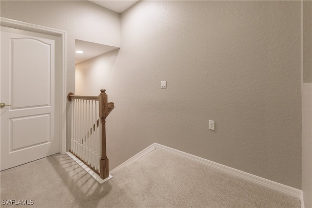
[[14,19],[7,19],[0,17],[0,26],[12,27],[20,30],[28,30],[32,32],[39,32],[43,34],[53,35],[60,38],[61,42],[61,52],[60,65],[56,67],[59,71],[59,76],[55,77],[55,83],[59,85],[59,103],[56,103],[56,108],[59,108],[59,153],[66,153],[66,31],[57,30],[41,25],[35,25],[27,22],[22,22]]

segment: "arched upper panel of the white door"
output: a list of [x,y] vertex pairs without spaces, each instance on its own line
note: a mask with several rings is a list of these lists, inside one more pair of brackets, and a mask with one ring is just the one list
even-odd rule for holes
[[50,105],[53,42],[11,38],[10,45],[13,109]]

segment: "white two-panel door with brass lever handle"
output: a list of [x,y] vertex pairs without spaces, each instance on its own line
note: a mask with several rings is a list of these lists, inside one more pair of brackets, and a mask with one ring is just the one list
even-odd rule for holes
[[58,153],[58,37],[1,27],[0,170]]

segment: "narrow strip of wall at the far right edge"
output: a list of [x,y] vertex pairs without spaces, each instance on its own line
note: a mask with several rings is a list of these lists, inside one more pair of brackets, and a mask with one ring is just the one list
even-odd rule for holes
[[[312,1],[303,1],[302,193],[312,207]],[[307,83],[310,82],[310,83]]]

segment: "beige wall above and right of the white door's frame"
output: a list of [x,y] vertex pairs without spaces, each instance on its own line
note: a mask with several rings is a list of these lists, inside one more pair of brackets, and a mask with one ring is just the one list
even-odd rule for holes
[[[66,31],[68,93],[75,92],[75,39],[120,47],[120,15],[89,1],[1,0],[0,7],[1,17]],[[67,103],[68,138],[69,107],[70,102]]]

